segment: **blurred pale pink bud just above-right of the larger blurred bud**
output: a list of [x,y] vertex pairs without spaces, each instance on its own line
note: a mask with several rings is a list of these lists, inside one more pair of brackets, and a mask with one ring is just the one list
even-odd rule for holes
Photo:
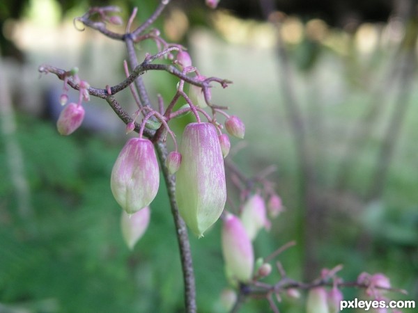
[[261,195],[255,194],[245,202],[242,208],[241,216],[242,225],[251,240],[256,238],[261,228],[269,228],[270,221],[266,216],[265,204]]

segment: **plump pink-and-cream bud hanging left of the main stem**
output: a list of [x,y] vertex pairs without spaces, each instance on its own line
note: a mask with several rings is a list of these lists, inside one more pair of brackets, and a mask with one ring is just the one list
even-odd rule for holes
[[154,200],[159,184],[153,144],[145,138],[130,138],[111,171],[110,187],[116,202],[133,214]]

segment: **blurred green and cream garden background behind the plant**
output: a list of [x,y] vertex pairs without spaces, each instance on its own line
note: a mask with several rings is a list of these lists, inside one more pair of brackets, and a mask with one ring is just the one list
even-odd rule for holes
[[[222,0],[213,11],[203,1],[176,0],[155,27],[189,47],[201,73],[233,81],[212,90],[214,102],[247,127],[245,141],[232,142],[231,160],[247,177],[277,168],[269,179],[286,211],[258,235],[257,256],[295,240],[279,256],[293,278],[309,281],[321,268],[343,264],[344,280],[385,273],[392,286],[408,290],[391,298],[417,300],[417,1],[305,2]],[[107,3],[121,6],[124,18],[138,6],[139,22],[157,6],[0,3],[1,313],[183,312],[164,184],[131,252],[109,188],[124,125],[92,99],[82,129],[59,136],[63,85],[37,70],[42,63],[77,66],[92,86],[121,81],[123,43],[72,24],[89,6]],[[147,51],[157,50],[145,42],[139,59]],[[176,90],[177,80],[162,72],[144,80],[153,99]],[[133,112],[129,93],[118,99]],[[199,312],[224,312],[219,223],[203,239],[190,238]],[[268,282],[278,279],[273,273]],[[343,293],[347,300],[362,294]],[[281,312],[305,312],[304,296],[284,297]],[[242,312],[270,311],[261,299]]]

